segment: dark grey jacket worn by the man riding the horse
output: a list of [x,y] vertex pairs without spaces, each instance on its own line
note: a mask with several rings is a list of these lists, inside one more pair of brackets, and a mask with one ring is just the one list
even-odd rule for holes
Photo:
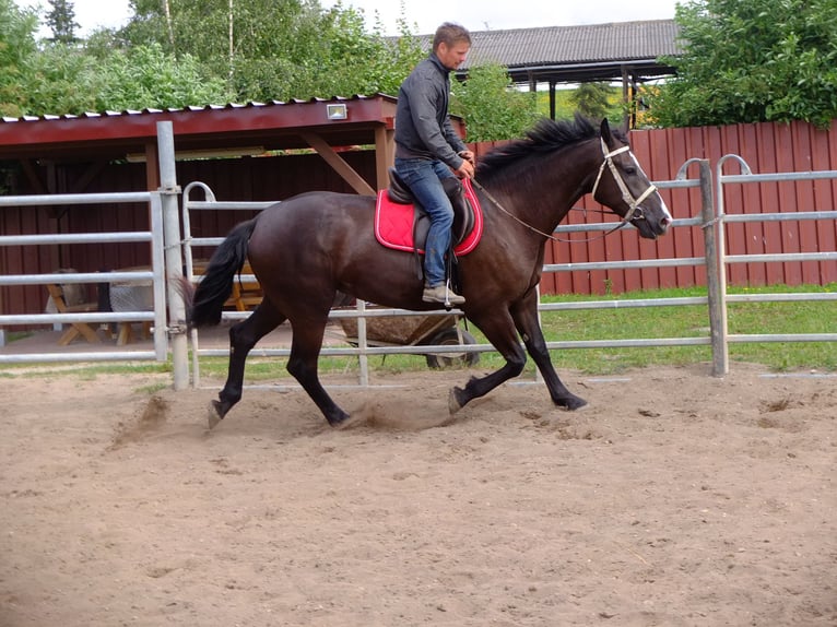
[[448,117],[450,71],[431,55],[401,83],[396,109],[396,156],[439,159],[453,169],[468,150]]

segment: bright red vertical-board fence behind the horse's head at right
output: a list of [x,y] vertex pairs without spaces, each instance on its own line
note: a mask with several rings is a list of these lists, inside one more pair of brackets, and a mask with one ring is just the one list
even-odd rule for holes
[[[689,158],[707,158],[714,174],[719,159],[738,154],[753,174],[804,173],[837,170],[837,127],[818,130],[804,122],[791,125],[756,123],[729,127],[657,129],[630,132],[630,144],[646,174],[653,181],[673,180],[679,168]],[[724,175],[742,174],[734,159],[727,159]],[[696,178],[697,165],[687,171]],[[697,188],[661,190],[675,218],[696,216],[700,212]],[[837,180],[801,180],[782,182],[724,184],[727,214],[793,213],[837,210]],[[602,209],[588,196],[580,206]],[[837,214],[832,214],[832,216]],[[568,222],[597,222],[601,214],[570,212]],[[615,220],[609,217],[608,220]],[[571,237],[582,239],[588,234]],[[759,222],[729,224],[729,255],[818,252],[837,250],[837,220]],[[703,234],[699,228],[675,228],[657,241],[640,239],[636,232],[622,230],[591,242],[551,242],[547,262],[579,263],[670,257],[702,257]],[[732,285],[759,286],[837,282],[834,261],[770,262],[730,264],[728,280]],[[602,294],[658,287],[703,285],[703,268],[663,268],[592,272],[561,272],[544,276],[542,292]]]

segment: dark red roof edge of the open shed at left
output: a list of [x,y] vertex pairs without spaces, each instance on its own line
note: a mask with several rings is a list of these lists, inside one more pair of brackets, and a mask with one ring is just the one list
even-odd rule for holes
[[[347,118],[330,120],[327,105],[345,104]],[[201,151],[260,146],[305,149],[303,133],[332,146],[376,143],[376,129],[392,129],[397,99],[385,94],[330,99],[210,105],[182,109],[87,113],[2,118],[0,159],[125,158],[156,144],[156,123],[172,121],[175,149]]]

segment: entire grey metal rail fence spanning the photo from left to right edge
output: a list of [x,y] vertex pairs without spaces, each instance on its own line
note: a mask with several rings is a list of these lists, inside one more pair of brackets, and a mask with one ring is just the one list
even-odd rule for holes
[[[161,154],[163,154],[161,149]],[[174,151],[172,149],[172,155]],[[724,175],[723,166],[729,161],[741,164],[743,174]],[[172,164],[174,163],[172,156]],[[688,170],[696,166],[696,178],[687,178]],[[641,307],[671,307],[671,306],[705,306],[709,333],[706,336],[683,338],[658,338],[658,339],[627,339],[613,340],[601,339],[591,341],[564,341],[547,343],[551,350],[566,348],[625,348],[648,346],[688,346],[708,345],[712,353],[712,375],[723,376],[729,371],[729,345],[742,342],[835,342],[837,333],[815,334],[753,334],[741,335],[728,332],[728,305],[744,301],[764,303],[795,303],[802,300],[837,300],[835,293],[776,293],[759,295],[730,295],[727,293],[727,274],[733,264],[738,263],[783,263],[787,261],[816,261],[832,262],[837,260],[837,251],[818,250],[814,252],[791,252],[777,255],[741,255],[728,256],[724,252],[726,228],[735,223],[743,222],[780,222],[780,221],[832,221],[829,228],[837,221],[837,211],[821,210],[812,212],[794,213],[758,213],[730,215],[724,212],[724,186],[744,186],[761,181],[804,180],[804,179],[837,179],[837,170],[812,171],[812,173],[786,173],[770,175],[754,175],[750,168],[736,155],[727,155],[716,164],[715,176],[707,159],[688,159],[680,168],[674,180],[659,181],[657,186],[667,188],[698,188],[702,198],[702,210],[697,215],[685,218],[676,218],[672,228],[699,229],[705,246],[705,255],[688,258],[662,258],[662,259],[637,259],[621,261],[600,261],[586,263],[554,263],[544,267],[544,272],[569,272],[577,270],[608,270],[608,269],[644,269],[644,268],[672,268],[683,265],[703,267],[707,274],[706,297],[684,298],[644,298],[630,300],[601,299],[582,303],[541,303],[540,311],[562,311],[579,309],[634,309]],[[201,182],[187,186],[182,193],[182,213],[177,215],[176,204],[174,211],[165,210],[166,201],[175,201],[178,193],[173,173],[164,177],[164,185],[160,192],[143,192],[129,194],[68,194],[63,197],[9,197],[0,198],[0,208],[20,204],[79,204],[93,202],[149,202],[151,206],[152,225],[150,232],[115,233],[115,234],[74,234],[74,235],[25,235],[2,236],[0,246],[42,246],[47,244],[92,244],[105,239],[113,241],[148,241],[152,247],[152,269],[130,273],[114,272],[108,274],[82,273],[82,274],[40,274],[40,275],[5,275],[0,276],[0,285],[12,284],[47,284],[56,282],[102,283],[116,281],[152,281],[154,285],[154,310],[132,312],[93,312],[93,314],[38,314],[25,316],[0,316],[0,328],[14,324],[31,324],[33,322],[64,323],[71,321],[86,321],[95,323],[126,322],[126,321],[153,321],[154,323],[154,351],[108,351],[96,353],[44,353],[37,355],[0,355],[3,362],[50,362],[50,360],[99,360],[99,359],[163,359],[168,351],[172,352],[175,362],[175,388],[182,389],[189,379],[189,366],[187,358],[187,338],[182,320],[185,310],[182,300],[176,289],[178,275],[185,268],[188,279],[193,280],[193,250],[211,249],[222,241],[222,237],[193,237],[191,234],[190,214],[194,211],[220,211],[220,210],[247,210],[260,211],[273,202],[222,202],[217,201],[212,190]],[[201,200],[192,199],[192,194],[202,193]],[[178,221],[182,220],[184,235],[179,235]],[[611,224],[579,224],[562,225],[556,229],[557,235],[592,232],[601,233],[612,227]],[[164,246],[164,241],[172,245]],[[165,269],[165,270],[164,270]],[[168,279],[168,282],[166,282]],[[251,275],[243,276],[244,280],[255,280]],[[168,322],[166,322],[166,306],[168,309]],[[444,314],[444,312],[443,312]],[[448,315],[456,316],[460,312],[450,311]],[[323,347],[323,356],[353,356],[359,363],[359,385],[369,382],[368,357],[373,355],[389,354],[438,354],[450,355],[450,345],[421,345],[421,346],[381,346],[370,345],[366,336],[366,319],[378,317],[401,316],[426,316],[426,312],[415,312],[402,309],[374,309],[366,308],[359,303],[356,310],[334,310],[331,319],[357,318],[357,345],[356,346],[327,346]],[[249,316],[246,311],[225,311],[227,319],[240,319]],[[174,320],[174,322],[172,322]],[[197,331],[192,332],[192,376],[193,386],[199,385],[200,370],[199,357],[201,356],[226,356],[226,348],[201,348]],[[456,353],[483,353],[494,351],[488,344],[469,344],[456,346]],[[287,356],[287,348],[255,348],[255,356]]]

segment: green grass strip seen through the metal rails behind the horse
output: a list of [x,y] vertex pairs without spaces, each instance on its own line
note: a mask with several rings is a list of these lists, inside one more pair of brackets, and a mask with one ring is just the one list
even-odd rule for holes
[[[797,292],[837,292],[837,284],[821,286],[770,286],[734,288],[730,294],[773,294]],[[628,300],[636,298],[705,297],[706,289],[658,289],[632,292],[620,296],[544,296],[544,303],[579,303],[589,300]],[[756,333],[836,333],[837,317],[834,301],[800,303],[734,303],[729,305],[728,324],[731,334]],[[541,323],[547,342],[580,340],[622,340],[632,338],[671,339],[707,338],[709,316],[706,305],[665,306],[624,309],[582,309],[544,311]],[[473,326],[469,331],[478,343],[487,343]],[[837,370],[837,346],[830,342],[762,342],[730,344],[730,360],[754,363],[775,371]],[[630,348],[568,348],[551,351],[553,364],[559,370],[571,369],[587,374],[609,375],[630,368],[660,365],[707,364],[711,362],[709,345],[652,346]],[[323,374],[356,374],[356,357],[322,357]],[[503,365],[496,353],[482,353],[479,370],[492,370]],[[424,370],[425,358],[417,355],[388,355],[369,357],[376,372]],[[226,376],[226,359],[202,358],[202,375]],[[534,365],[527,360],[527,372]],[[246,378],[249,382],[287,377],[284,358],[250,358]]]

